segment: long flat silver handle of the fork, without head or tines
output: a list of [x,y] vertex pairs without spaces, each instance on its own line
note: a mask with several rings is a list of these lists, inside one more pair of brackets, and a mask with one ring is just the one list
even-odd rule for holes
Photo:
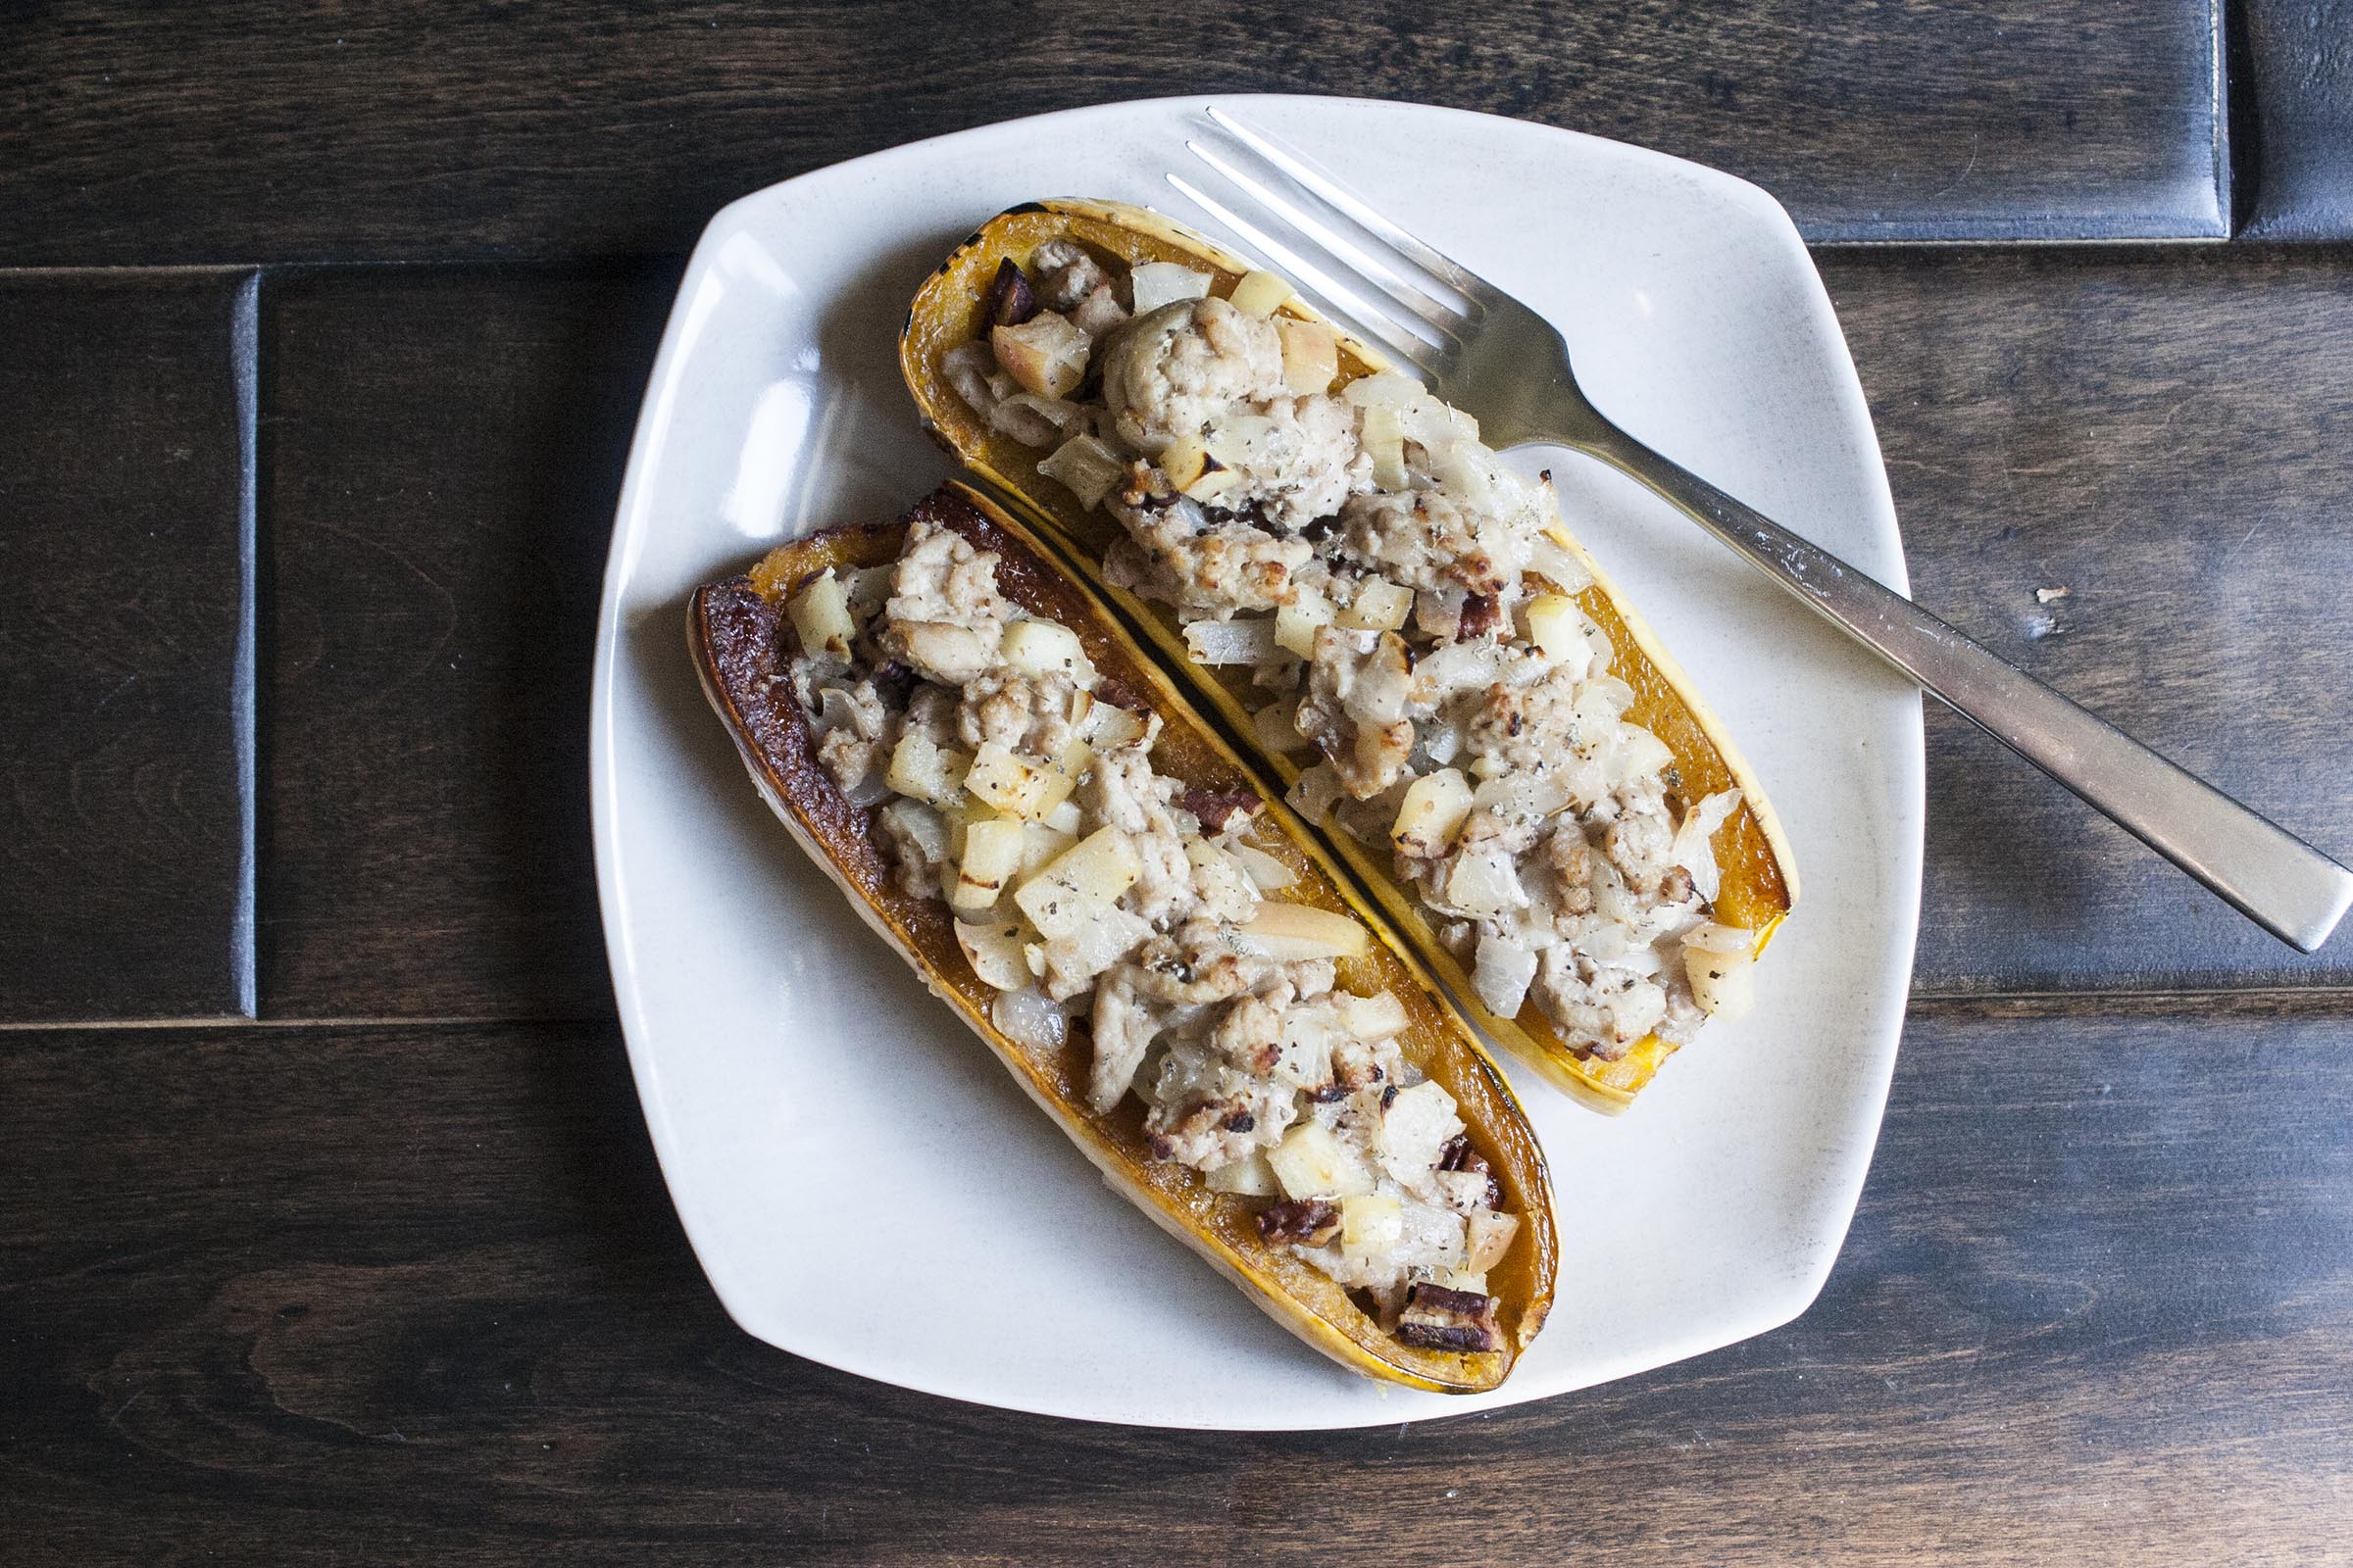
[[2313,952],[2337,929],[2346,905],[2353,905],[2353,872],[2304,839],[1617,425],[1595,425],[1600,428],[1579,430],[1569,444],[1673,501],[1807,609],[2115,818],[2132,837],[2280,940]]

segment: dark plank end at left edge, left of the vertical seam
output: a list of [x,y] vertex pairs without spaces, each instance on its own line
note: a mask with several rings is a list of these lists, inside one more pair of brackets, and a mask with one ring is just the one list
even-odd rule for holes
[[247,287],[0,277],[0,1023],[247,1006]]

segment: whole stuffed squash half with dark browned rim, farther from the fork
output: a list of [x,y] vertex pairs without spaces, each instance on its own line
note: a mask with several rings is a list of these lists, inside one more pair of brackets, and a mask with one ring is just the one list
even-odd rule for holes
[[1555,1234],[1504,1077],[1021,524],[948,487],[793,541],[689,642],[793,837],[1118,1192],[1358,1373],[1511,1373]]

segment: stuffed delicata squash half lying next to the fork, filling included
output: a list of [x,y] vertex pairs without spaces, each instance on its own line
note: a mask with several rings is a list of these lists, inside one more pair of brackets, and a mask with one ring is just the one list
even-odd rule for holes
[[1788,842],[1548,477],[1468,414],[1115,202],[984,226],[901,371],[1515,1056],[1617,1112],[1746,1011]]

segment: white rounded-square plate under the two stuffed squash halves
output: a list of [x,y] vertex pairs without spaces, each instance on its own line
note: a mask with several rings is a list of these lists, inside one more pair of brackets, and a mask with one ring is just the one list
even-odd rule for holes
[[[1635,435],[1904,585],[1854,367],[1762,190],[1459,110],[1221,103],[1544,310]],[[1344,1373],[1101,1187],[802,860],[704,705],[685,651],[696,583],[793,534],[894,517],[946,477],[896,371],[925,273],[1040,195],[1200,221],[1162,183],[1200,108],[1113,103],[878,153],[734,202],[694,252],[621,489],[591,717],[614,990],[687,1239],[727,1312],[795,1354],[1167,1427],[1459,1415],[1784,1324],[1854,1215],[1894,1065],[1920,698],[1633,484],[1522,454],[1555,470],[1569,527],[1739,736],[1802,898],[1758,1011],[1708,1030],[1631,1114],[1515,1074],[1562,1194],[1562,1269],[1548,1328],[1494,1394]]]

